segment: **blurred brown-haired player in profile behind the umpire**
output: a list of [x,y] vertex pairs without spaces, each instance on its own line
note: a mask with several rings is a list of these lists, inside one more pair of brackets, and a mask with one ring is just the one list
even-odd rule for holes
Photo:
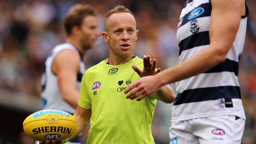
[[[85,72],[83,56],[100,35],[95,8],[78,4],[65,16],[67,41],[54,47],[45,62],[42,78],[43,109],[58,109],[74,114]],[[79,144],[79,137],[70,141]]]

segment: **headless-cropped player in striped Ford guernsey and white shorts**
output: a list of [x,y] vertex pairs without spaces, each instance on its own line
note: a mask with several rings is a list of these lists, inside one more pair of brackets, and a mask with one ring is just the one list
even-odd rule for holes
[[187,0],[180,13],[178,65],[133,82],[139,100],[176,82],[170,144],[240,144],[245,113],[238,64],[245,41],[245,0]]

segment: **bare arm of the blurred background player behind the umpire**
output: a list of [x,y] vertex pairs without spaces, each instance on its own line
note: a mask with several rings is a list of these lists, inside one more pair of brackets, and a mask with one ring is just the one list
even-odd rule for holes
[[80,57],[72,50],[63,50],[54,59],[52,71],[57,75],[63,100],[74,109],[77,107],[80,92],[77,87]]

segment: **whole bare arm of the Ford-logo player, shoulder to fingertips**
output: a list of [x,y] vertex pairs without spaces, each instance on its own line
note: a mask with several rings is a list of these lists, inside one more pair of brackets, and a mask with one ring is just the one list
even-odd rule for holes
[[245,13],[245,0],[212,0],[211,5],[210,46],[179,65],[133,82],[125,91],[132,90],[128,97],[141,91],[152,94],[167,83],[195,76],[225,61],[236,37],[241,14]]

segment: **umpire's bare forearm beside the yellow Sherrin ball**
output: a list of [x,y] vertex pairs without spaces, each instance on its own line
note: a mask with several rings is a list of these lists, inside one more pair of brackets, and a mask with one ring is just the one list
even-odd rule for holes
[[77,129],[76,132],[69,137],[69,140],[77,137],[80,133],[82,133],[85,127],[89,125],[91,119],[91,109],[84,109],[78,105],[74,117],[77,120]]

